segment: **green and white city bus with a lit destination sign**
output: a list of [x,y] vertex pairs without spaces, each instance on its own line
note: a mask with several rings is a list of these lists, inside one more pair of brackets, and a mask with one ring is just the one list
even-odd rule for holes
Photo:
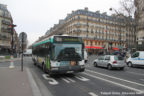
[[48,74],[83,72],[83,40],[81,37],[51,36],[32,45],[32,59]]

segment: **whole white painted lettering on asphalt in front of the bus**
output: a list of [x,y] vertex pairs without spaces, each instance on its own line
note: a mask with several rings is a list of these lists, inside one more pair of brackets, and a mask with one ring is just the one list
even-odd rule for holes
[[83,76],[61,76],[59,78],[50,77],[48,74],[42,74],[42,77],[48,81],[50,85],[58,85],[60,84],[60,81],[64,81],[65,83],[76,83],[78,81],[86,82],[90,79],[83,77]]

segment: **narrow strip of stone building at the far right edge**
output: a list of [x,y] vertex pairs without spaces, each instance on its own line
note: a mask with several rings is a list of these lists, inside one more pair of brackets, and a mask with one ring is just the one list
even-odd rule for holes
[[135,0],[136,42],[137,50],[144,51],[144,0]]

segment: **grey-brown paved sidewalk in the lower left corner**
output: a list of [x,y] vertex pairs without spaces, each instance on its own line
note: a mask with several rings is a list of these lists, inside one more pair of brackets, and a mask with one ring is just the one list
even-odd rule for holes
[[0,96],[33,96],[27,70],[0,68]]

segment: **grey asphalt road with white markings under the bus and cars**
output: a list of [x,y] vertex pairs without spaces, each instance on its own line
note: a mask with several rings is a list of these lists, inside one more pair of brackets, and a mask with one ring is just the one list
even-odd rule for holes
[[[85,72],[78,74],[55,75],[50,77],[41,68],[33,65],[31,58],[25,57],[24,67],[28,67],[42,96],[144,96],[144,68],[107,70],[94,67],[90,56]],[[20,60],[14,65],[20,67]],[[9,62],[0,63],[0,68],[8,67]]]

